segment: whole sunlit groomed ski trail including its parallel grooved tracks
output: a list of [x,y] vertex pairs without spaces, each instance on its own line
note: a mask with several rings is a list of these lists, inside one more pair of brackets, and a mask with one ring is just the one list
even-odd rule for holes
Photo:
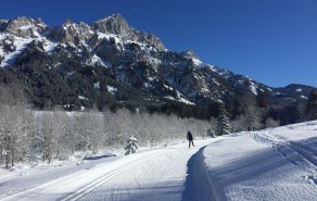
[[83,169],[3,200],[181,200],[191,156],[215,139],[122,156]]

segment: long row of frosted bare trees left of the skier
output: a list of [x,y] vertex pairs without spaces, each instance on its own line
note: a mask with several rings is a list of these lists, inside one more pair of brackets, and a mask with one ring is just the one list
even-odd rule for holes
[[206,135],[206,121],[176,115],[105,112],[31,111],[25,106],[0,106],[0,164],[20,161],[67,159],[76,151],[98,153],[107,148],[125,148],[135,136],[141,146],[186,139],[191,130]]

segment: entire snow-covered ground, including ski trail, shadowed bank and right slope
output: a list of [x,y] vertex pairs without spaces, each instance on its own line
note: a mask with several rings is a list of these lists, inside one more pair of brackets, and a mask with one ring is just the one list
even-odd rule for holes
[[[317,122],[0,171],[3,200],[316,200]],[[41,168],[40,168],[41,167]],[[26,174],[27,173],[27,174]]]

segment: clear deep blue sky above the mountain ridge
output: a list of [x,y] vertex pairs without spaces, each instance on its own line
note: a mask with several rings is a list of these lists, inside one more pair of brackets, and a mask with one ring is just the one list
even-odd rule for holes
[[0,18],[93,22],[121,13],[175,51],[272,87],[317,87],[317,0],[8,0]]

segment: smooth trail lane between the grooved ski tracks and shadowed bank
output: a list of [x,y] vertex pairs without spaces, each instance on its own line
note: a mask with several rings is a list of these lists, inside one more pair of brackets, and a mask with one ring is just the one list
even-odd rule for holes
[[[142,163],[136,164],[115,178],[102,183],[81,201],[177,201],[181,200],[187,178],[189,160],[202,147],[215,141],[195,141],[189,149],[187,143],[161,149],[157,154]],[[199,165],[199,164],[198,164]]]

